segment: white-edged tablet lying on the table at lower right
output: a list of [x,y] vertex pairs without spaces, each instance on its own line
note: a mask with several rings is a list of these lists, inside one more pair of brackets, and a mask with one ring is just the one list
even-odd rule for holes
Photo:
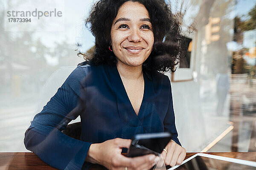
[[256,162],[197,153],[168,170],[256,170]]

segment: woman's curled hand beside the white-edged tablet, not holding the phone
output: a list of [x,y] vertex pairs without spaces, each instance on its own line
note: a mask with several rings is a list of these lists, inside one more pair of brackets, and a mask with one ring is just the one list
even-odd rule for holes
[[161,153],[166,165],[175,166],[181,164],[186,157],[186,149],[181,147],[179,144],[170,140],[170,142],[165,147],[165,150]]

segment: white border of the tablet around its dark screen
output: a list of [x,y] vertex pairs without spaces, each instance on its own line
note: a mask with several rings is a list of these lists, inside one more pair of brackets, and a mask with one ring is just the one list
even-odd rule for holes
[[[217,155],[211,155],[211,154],[206,154],[206,153],[196,153],[195,155],[193,155],[193,156],[189,157],[188,159],[184,160],[180,165],[182,165],[182,164],[186,163],[187,161],[195,158],[196,156],[204,156],[204,157],[207,157],[207,158],[218,159],[218,160],[222,160],[222,161],[229,161],[229,162],[234,162],[234,163],[237,163],[237,164],[244,164],[244,165],[248,165],[248,166],[251,166],[251,167],[256,167],[256,162],[254,162],[254,161],[228,158],[228,157],[224,157],[224,156],[217,156]],[[168,170],[175,170],[180,165],[176,165],[174,167],[171,167]]]

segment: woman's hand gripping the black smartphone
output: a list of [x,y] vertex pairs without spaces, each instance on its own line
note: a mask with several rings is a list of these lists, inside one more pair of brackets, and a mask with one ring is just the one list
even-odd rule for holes
[[101,164],[111,170],[149,170],[159,159],[153,154],[128,158],[121,154],[122,147],[130,147],[131,139],[111,139],[91,144],[85,161]]

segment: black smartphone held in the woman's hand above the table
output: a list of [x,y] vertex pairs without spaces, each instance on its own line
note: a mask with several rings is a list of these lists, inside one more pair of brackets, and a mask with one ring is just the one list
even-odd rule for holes
[[163,148],[166,147],[171,139],[172,134],[169,132],[136,134],[132,138],[126,156],[135,157],[151,153],[160,156]]

